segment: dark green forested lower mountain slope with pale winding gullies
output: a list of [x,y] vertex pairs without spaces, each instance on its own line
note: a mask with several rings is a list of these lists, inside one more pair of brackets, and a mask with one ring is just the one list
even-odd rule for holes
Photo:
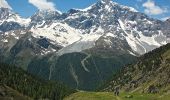
[[121,66],[134,60],[135,57],[125,54],[119,57],[102,57],[95,54],[70,53],[58,58],[53,55],[35,58],[27,70],[45,79],[60,80],[77,89],[94,90],[111,73],[116,73]]

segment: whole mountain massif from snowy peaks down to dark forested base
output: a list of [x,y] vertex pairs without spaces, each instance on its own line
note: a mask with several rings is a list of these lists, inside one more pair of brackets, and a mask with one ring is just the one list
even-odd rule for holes
[[169,21],[110,0],[63,14],[39,11],[28,19],[0,11],[2,60],[77,88],[86,89],[84,81],[95,88],[136,56],[170,42]]

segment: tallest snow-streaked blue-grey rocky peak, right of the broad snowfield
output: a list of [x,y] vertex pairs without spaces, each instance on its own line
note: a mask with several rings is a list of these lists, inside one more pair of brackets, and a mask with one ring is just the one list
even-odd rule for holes
[[132,52],[140,55],[170,42],[168,34],[162,30],[162,21],[112,1],[102,0],[85,10],[75,9],[75,12],[64,19],[70,26],[83,34],[93,34],[100,28],[105,41],[109,41],[107,37],[113,38],[110,43],[114,38],[121,39],[128,43]]

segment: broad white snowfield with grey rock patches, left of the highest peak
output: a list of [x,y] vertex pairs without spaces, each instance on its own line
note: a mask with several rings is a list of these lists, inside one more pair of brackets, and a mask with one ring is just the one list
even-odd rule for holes
[[62,46],[68,46],[75,41],[78,41],[81,36],[78,30],[68,26],[67,24],[62,24],[54,22],[50,27],[43,28],[32,28],[33,36],[39,38],[40,36],[46,37],[56,44]]

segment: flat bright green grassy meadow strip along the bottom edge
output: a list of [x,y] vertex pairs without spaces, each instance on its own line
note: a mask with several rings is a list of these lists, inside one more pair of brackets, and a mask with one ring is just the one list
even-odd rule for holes
[[112,92],[77,92],[64,100],[170,100],[170,94],[121,93],[114,96]]

